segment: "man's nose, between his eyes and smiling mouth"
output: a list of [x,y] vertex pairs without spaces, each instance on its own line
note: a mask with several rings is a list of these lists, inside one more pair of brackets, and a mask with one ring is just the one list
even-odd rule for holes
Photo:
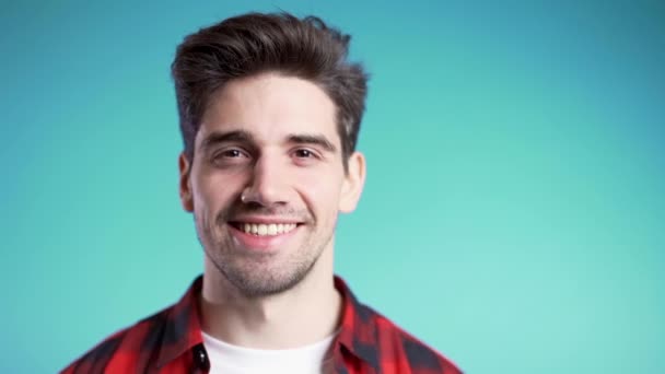
[[254,164],[252,178],[243,190],[241,200],[270,208],[288,203],[288,194],[285,167],[278,160],[261,156]]

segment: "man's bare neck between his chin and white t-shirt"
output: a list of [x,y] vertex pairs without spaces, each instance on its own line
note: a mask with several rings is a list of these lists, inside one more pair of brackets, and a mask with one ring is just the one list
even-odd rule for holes
[[332,335],[340,324],[341,296],[335,289],[332,261],[319,260],[293,289],[246,297],[206,258],[200,299],[203,331],[254,349],[298,348]]

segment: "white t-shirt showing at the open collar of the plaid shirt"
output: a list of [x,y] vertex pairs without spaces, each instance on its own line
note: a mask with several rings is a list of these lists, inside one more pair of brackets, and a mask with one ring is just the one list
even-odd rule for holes
[[202,335],[210,374],[320,374],[330,364],[326,353],[336,337],[335,334],[294,349],[262,350],[233,346],[206,332]]

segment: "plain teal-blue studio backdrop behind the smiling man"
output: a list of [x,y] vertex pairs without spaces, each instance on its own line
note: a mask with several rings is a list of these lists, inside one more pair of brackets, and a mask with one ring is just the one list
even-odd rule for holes
[[317,14],[372,72],[355,293],[468,373],[665,373],[662,1],[3,1],[0,372],[52,373],[202,269],[176,44]]

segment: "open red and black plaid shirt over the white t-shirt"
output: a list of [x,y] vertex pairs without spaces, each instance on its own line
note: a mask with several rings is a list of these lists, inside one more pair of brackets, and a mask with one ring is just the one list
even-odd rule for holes
[[[73,362],[62,373],[208,373],[197,296],[197,278],[178,303],[120,330]],[[460,374],[443,355],[358,302],[341,278],[341,329],[334,342],[336,373]]]

